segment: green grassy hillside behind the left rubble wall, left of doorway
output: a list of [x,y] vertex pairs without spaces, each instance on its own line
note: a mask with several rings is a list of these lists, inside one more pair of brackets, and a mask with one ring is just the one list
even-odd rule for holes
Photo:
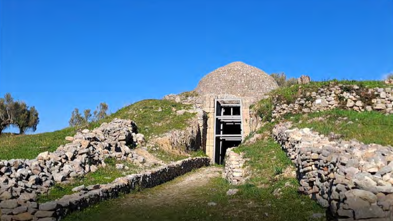
[[[157,111],[159,108],[162,111]],[[114,114],[107,116],[100,122],[88,125],[89,129],[98,127],[102,122],[110,122],[114,118],[134,120],[138,125],[139,133],[145,134],[149,139],[154,134],[162,134],[171,129],[182,129],[186,120],[193,114],[176,115],[176,110],[185,109],[187,105],[166,100],[143,100],[130,106],[123,107]],[[174,111],[172,110],[174,109]],[[74,128],[65,128],[59,131],[33,134],[0,136],[0,159],[28,158],[32,159],[43,151],[54,151],[61,144],[66,144],[66,136],[73,136]]]

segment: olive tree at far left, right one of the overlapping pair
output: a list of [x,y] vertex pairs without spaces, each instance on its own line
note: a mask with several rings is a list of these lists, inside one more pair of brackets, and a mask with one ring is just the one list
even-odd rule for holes
[[25,134],[26,131],[32,132],[37,130],[37,125],[40,122],[38,111],[35,107],[28,107],[24,102],[16,103],[17,114],[14,119],[14,124],[19,128],[19,134]]

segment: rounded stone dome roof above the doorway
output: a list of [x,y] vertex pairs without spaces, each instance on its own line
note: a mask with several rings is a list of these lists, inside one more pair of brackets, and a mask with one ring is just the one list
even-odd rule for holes
[[240,61],[218,68],[204,76],[195,88],[200,95],[232,94],[239,97],[262,98],[278,85],[263,70]]

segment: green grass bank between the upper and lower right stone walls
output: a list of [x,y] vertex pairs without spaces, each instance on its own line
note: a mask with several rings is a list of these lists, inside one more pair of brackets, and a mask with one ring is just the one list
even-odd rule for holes
[[[323,120],[315,119],[319,117]],[[348,119],[339,120],[345,117]],[[389,132],[393,125],[393,115],[384,115],[375,111],[356,112],[334,109],[311,114],[296,114],[286,118],[294,123],[294,127],[312,128],[325,135],[331,132],[342,134],[344,140],[356,139],[365,144],[393,145],[393,133]]]

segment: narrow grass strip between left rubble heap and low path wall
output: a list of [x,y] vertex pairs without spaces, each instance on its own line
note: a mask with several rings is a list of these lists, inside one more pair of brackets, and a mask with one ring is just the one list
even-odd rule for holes
[[[130,164],[129,162],[116,162],[116,160],[105,160],[107,162],[107,166],[105,168],[99,167],[97,171],[94,173],[88,173],[84,177],[77,177],[74,182],[70,184],[55,184],[51,187],[50,192],[47,194],[39,195],[38,202],[44,203],[48,201],[52,201],[55,199],[60,199],[64,195],[70,195],[72,192],[72,188],[77,186],[88,186],[93,184],[107,184],[112,182],[118,177],[124,177],[129,174],[137,173],[138,167]],[[116,169],[115,164],[121,163],[124,166],[128,166],[129,170],[119,170]]]

